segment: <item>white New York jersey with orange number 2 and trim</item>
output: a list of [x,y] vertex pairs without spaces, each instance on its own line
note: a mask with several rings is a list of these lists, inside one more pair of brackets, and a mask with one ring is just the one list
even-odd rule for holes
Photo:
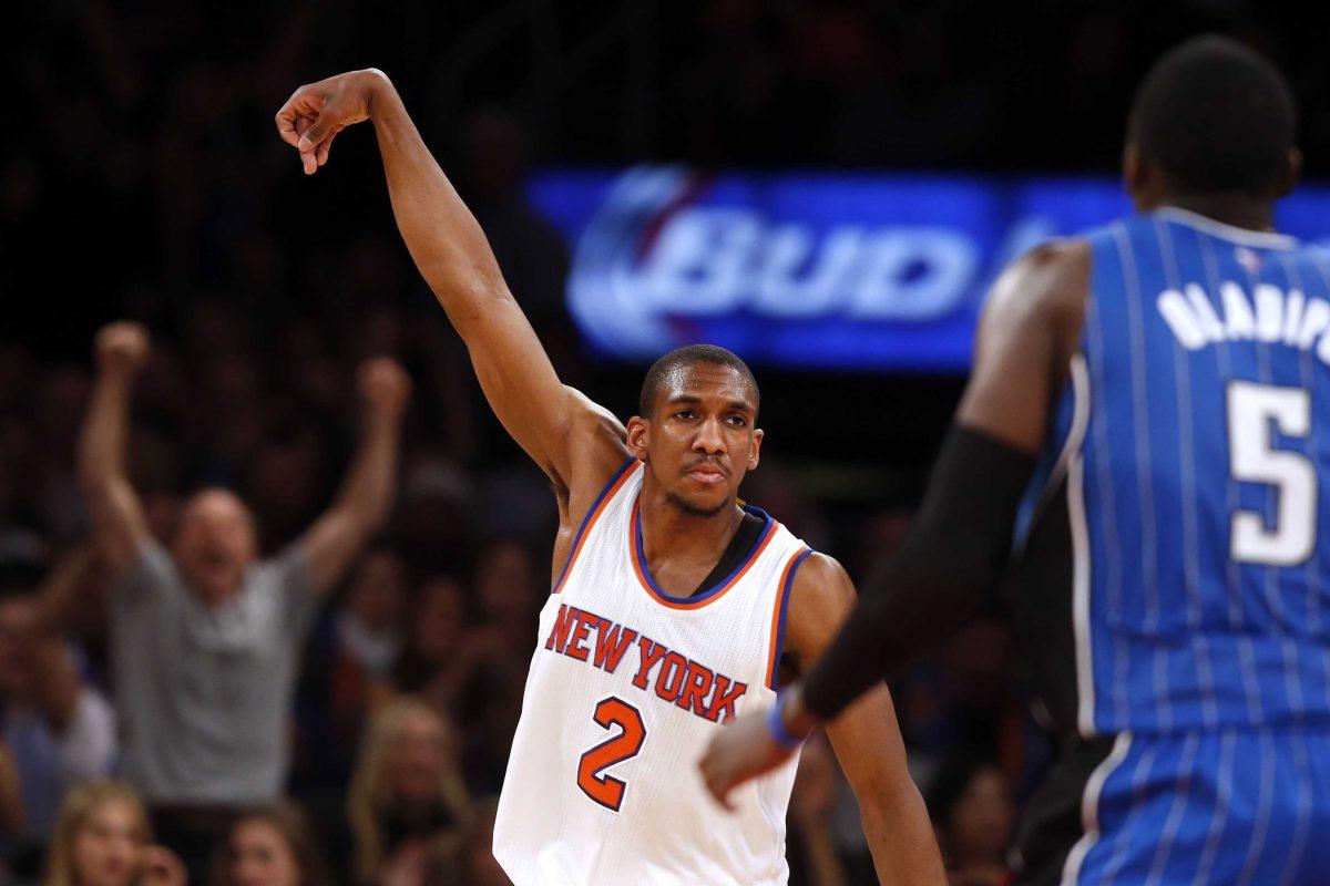
[[540,614],[508,758],[495,857],[516,886],[785,883],[798,758],[721,809],[697,762],[717,729],[775,703],[785,608],[810,553],[766,521],[745,561],[690,598],[642,555],[641,462],[583,521]]

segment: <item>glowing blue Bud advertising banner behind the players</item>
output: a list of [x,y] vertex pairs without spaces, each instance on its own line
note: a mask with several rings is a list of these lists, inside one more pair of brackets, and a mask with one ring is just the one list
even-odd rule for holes
[[[964,372],[1003,266],[1130,211],[1108,178],[652,166],[544,173],[529,194],[568,236],[568,307],[602,355],[710,341],[757,365],[891,372]],[[1330,189],[1279,222],[1330,236]]]

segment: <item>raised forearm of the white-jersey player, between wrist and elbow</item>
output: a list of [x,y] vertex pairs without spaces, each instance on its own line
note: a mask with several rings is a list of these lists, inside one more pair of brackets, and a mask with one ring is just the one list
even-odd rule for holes
[[420,275],[466,339],[487,304],[512,296],[484,231],[420,138],[402,97],[387,77],[376,77],[370,120],[398,230]]

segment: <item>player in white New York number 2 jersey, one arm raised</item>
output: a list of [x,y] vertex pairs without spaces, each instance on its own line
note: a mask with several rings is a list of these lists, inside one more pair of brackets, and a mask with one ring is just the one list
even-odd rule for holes
[[[471,213],[378,70],[302,86],[277,114],[313,174],[370,120],[398,227],[471,352],[485,397],[549,476],[560,527],[495,824],[517,886],[785,883],[794,760],[730,798],[697,761],[770,707],[782,656],[815,660],[851,607],[845,570],[737,501],[757,468],[758,391],[721,348],[666,355],[625,428],[565,388]],[[879,688],[827,724],[883,882],[943,883]]]

